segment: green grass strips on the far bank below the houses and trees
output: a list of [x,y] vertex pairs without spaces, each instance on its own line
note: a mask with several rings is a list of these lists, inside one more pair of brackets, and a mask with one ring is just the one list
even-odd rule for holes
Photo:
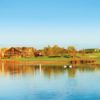
[[[97,63],[100,64],[100,53],[89,53],[84,56],[77,54],[78,58],[94,58],[96,59]],[[16,61],[47,61],[47,62],[68,62],[71,58],[65,57],[31,57],[31,58],[9,58],[9,59],[2,59],[2,60],[16,60]]]

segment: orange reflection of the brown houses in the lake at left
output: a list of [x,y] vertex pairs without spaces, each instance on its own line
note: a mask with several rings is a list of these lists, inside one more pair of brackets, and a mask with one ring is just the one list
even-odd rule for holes
[[4,75],[23,75],[34,74],[39,66],[19,65],[15,62],[0,62],[0,74]]

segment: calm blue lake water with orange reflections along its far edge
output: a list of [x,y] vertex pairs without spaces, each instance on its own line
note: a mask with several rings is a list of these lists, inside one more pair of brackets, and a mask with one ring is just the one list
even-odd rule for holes
[[0,63],[0,100],[100,100],[100,68]]

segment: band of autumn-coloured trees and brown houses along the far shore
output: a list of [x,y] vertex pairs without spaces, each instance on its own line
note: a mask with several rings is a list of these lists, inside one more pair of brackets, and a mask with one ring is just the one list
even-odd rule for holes
[[77,53],[95,53],[100,52],[100,49],[82,49],[77,50],[74,46],[68,46],[67,48],[60,47],[58,45],[47,46],[43,49],[35,49],[33,47],[11,47],[11,48],[1,48],[0,57],[10,58],[10,57],[38,57],[38,56],[48,56],[48,57],[74,57]]

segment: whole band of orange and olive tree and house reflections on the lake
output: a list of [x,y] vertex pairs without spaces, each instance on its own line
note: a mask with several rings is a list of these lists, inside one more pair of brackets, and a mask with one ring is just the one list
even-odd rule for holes
[[[41,70],[41,71],[39,71]],[[4,75],[27,75],[42,72],[45,76],[57,76],[64,74],[66,71],[68,77],[75,77],[77,70],[80,72],[100,70],[100,66],[79,65],[75,68],[64,69],[61,65],[29,65],[15,62],[0,62],[0,74]]]

